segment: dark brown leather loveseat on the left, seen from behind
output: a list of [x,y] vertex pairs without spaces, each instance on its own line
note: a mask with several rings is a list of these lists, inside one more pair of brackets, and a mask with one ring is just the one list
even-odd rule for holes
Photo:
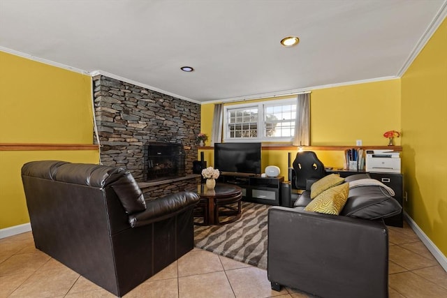
[[36,248],[121,297],[193,248],[195,193],[145,201],[120,167],[22,167]]

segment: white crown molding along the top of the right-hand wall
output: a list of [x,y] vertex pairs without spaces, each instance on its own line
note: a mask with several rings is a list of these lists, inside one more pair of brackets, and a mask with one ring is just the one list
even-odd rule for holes
[[418,57],[418,54],[420,51],[423,50],[425,45],[428,43],[428,40],[432,38],[433,33],[437,31],[438,27],[441,25],[441,23],[444,21],[444,19],[447,16],[447,0],[444,1],[444,4],[439,8],[438,13],[434,16],[432,22],[427,27],[421,38],[418,40],[418,43],[416,43],[416,46],[413,48],[411,53],[409,54],[409,57],[406,59],[404,65],[402,68],[400,68],[399,72],[397,72],[397,77],[402,77],[406,70],[411,66],[414,59]]

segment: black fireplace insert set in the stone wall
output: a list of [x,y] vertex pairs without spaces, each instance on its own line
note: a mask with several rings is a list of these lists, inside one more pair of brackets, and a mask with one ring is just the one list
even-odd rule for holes
[[182,144],[147,142],[145,144],[146,181],[185,176],[185,153]]

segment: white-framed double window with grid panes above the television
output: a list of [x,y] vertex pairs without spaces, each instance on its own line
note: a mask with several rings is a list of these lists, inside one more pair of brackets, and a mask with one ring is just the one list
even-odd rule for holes
[[295,133],[296,99],[224,107],[226,142],[291,141]]

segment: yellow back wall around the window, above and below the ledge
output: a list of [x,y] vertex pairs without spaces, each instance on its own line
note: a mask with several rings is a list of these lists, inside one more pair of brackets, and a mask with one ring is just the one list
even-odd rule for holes
[[[265,100],[278,99],[282,98]],[[202,105],[201,131],[208,135],[211,135],[213,114],[210,111],[213,111],[213,108],[214,104]],[[316,89],[311,94],[310,108],[311,145],[355,146],[356,140],[362,140],[366,148],[368,145],[386,146],[388,139],[383,137],[383,133],[401,129],[400,79]],[[397,138],[395,144],[400,145],[400,141],[400,138]],[[288,146],[290,142],[284,145]],[[199,154],[200,151],[205,152],[207,165],[213,165],[212,149],[199,150]],[[263,151],[261,168],[277,165],[281,174],[286,177],[288,152],[292,153],[293,161],[296,151]],[[343,167],[343,151],[320,150],[316,151],[316,154],[325,166]]]

